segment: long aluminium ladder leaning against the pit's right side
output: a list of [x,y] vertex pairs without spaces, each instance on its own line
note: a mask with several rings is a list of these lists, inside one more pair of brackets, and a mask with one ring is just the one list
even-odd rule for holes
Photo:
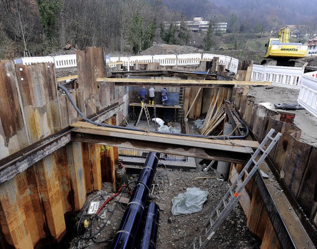
[[[277,133],[276,136],[272,138],[272,134],[274,132],[274,129],[271,129],[268,132],[260,147],[254,152],[250,160],[242,169],[237,179],[231,185],[228,192],[224,195],[223,199],[219,202],[217,207],[212,211],[211,216],[204,224],[203,231],[199,234],[198,237],[195,238],[195,240],[189,247],[190,249],[203,249],[211,240],[211,237],[214,235],[216,230],[221,226],[222,222],[226,219],[230,211],[238,203],[239,199],[241,198],[241,191],[247,185],[261,163],[264,161],[265,157],[268,155],[271,149],[273,149],[274,145],[282,136],[281,133]],[[267,143],[269,143],[269,145],[266,145]],[[262,152],[262,155],[260,152]],[[261,155],[261,157],[258,161],[256,161],[256,158],[259,154]],[[248,172],[248,169],[250,169],[251,171]]]

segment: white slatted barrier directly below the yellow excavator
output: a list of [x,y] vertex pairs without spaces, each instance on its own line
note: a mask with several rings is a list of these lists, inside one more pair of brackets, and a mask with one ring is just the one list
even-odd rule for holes
[[253,65],[251,81],[271,81],[273,86],[299,89],[304,68]]

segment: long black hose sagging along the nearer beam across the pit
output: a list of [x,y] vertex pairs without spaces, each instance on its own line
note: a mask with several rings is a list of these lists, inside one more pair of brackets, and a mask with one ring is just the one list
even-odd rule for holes
[[[144,130],[138,129],[138,128],[132,128],[132,127],[122,127],[122,126],[116,126],[116,125],[108,125],[108,124],[101,124],[101,123],[97,123],[94,122],[92,120],[90,120],[89,118],[87,118],[76,106],[76,103],[74,102],[74,100],[71,98],[71,95],[69,94],[68,90],[61,86],[58,85],[57,88],[61,89],[64,91],[64,93],[67,95],[67,98],[70,100],[71,104],[74,106],[75,110],[78,112],[78,114],[85,119],[87,122],[96,125],[96,126],[101,126],[101,127],[108,127],[108,128],[116,128],[116,129],[122,129],[122,130],[129,130],[129,131],[142,131],[144,132]],[[235,115],[236,113],[233,112]],[[237,115],[236,115],[237,116]],[[241,119],[237,116],[237,118],[239,119],[239,121],[244,124],[244,122],[241,121]],[[245,125],[245,124],[244,124]],[[183,134],[183,133],[170,133],[170,132],[162,132],[162,131],[151,131],[153,133],[159,133],[159,134],[173,134],[175,136],[183,136],[183,137],[195,137],[195,138],[210,138],[210,139],[218,139],[218,140],[225,140],[225,139],[244,139],[246,137],[248,137],[249,135],[249,128],[247,125],[246,129],[247,129],[247,134],[244,136],[229,136],[229,137],[223,137],[223,136],[218,136],[218,137],[212,137],[212,136],[204,136],[204,135],[191,135],[191,134]]]

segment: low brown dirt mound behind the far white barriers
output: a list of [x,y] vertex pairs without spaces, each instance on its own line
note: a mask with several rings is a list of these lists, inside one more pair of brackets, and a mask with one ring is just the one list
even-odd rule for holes
[[179,45],[155,44],[144,50],[142,55],[199,53],[197,48]]

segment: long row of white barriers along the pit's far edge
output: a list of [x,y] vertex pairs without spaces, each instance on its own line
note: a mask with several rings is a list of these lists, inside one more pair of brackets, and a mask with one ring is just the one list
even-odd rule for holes
[[[226,69],[237,73],[239,60],[230,56],[209,54],[209,53],[190,53],[190,54],[158,54],[158,55],[140,55],[140,56],[120,56],[110,57],[110,67],[116,67],[118,64],[126,66],[128,71],[130,66],[135,63],[159,63],[161,66],[186,66],[199,65],[201,59],[212,59],[219,57],[221,65],[225,65]],[[24,65],[31,65],[34,63],[50,62],[55,63],[56,68],[76,67],[76,54],[57,55],[57,56],[43,56],[43,57],[24,57],[21,59]]]

